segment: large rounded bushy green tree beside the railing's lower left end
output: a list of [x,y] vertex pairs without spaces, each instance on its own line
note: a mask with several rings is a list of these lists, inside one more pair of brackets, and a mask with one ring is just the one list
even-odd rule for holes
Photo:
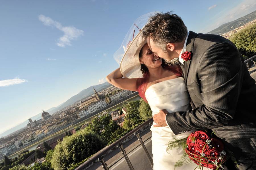
[[65,137],[55,146],[51,166],[55,170],[66,170],[104,146],[106,143],[96,133],[83,129],[72,136]]

